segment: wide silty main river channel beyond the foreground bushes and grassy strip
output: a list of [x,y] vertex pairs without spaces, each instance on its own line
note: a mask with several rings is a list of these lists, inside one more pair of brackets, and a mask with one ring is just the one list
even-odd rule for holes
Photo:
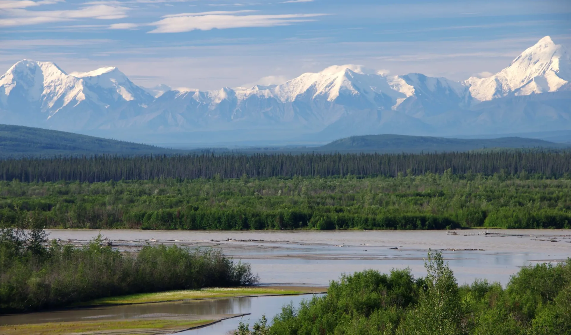
[[[569,230],[461,231],[100,231],[121,250],[150,244],[220,248],[252,265],[262,284],[327,285],[341,273],[410,267],[424,275],[429,249],[442,250],[460,284],[506,284],[522,265],[571,256]],[[49,230],[51,238],[87,243],[99,231]],[[554,242],[552,242],[554,241]]]

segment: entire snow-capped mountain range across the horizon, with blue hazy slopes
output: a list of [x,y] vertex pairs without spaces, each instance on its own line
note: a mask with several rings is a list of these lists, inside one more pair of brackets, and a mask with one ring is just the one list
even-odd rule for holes
[[564,130],[571,129],[570,80],[570,56],[549,36],[495,75],[463,82],[344,65],[280,85],[176,91],[139,87],[115,67],[66,73],[25,59],[0,76],[0,123],[123,138],[215,133],[211,141],[240,129],[257,140],[280,132],[329,139]]

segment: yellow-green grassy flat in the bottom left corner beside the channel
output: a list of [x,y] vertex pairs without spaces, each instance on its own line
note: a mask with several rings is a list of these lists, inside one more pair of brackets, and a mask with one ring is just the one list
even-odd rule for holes
[[5,335],[67,335],[67,334],[168,334],[210,324],[213,320],[107,320],[83,322],[50,322],[0,326]]

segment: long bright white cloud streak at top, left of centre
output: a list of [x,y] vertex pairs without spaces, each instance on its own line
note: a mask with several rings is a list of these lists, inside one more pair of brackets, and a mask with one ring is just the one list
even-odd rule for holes
[[315,21],[316,17],[328,14],[280,14],[280,15],[243,15],[249,11],[212,11],[203,13],[183,13],[165,15],[163,19],[152,22],[152,33],[185,32],[192,30],[211,30],[244,27],[287,26],[293,23]]

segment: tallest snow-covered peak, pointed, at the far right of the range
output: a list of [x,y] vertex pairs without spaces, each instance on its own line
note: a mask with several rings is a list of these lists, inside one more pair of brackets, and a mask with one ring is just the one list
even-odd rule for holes
[[568,86],[571,80],[571,60],[568,52],[560,44],[555,44],[550,36],[540,39],[534,46],[517,56],[508,67],[495,75],[471,77],[465,84],[475,99],[492,100],[513,93],[554,92]]

